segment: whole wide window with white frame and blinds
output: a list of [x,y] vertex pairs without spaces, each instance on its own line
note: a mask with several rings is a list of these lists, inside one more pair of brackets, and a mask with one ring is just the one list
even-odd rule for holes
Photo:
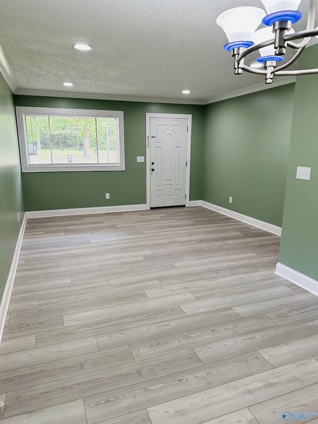
[[16,107],[22,172],[125,170],[124,112]]

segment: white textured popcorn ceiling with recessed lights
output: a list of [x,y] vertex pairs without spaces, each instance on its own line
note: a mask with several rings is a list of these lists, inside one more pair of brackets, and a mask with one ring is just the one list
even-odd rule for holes
[[[0,0],[0,45],[19,88],[170,98],[189,88],[189,99],[206,99],[263,82],[233,75],[215,23],[240,5],[262,7],[260,0]],[[75,43],[93,50],[79,52]]]

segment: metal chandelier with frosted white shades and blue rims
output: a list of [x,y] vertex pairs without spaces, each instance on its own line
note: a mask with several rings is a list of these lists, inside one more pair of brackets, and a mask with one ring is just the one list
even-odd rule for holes
[[[265,76],[265,83],[271,84],[274,75],[318,74],[316,69],[285,71],[303,53],[311,37],[318,37],[315,29],[316,0],[310,0],[307,29],[295,32],[292,24],[302,19],[303,13],[298,10],[302,0],[261,0],[265,10],[259,7],[235,7],[220,14],[217,24],[226,33],[229,43],[224,46],[234,57],[234,73],[243,71]],[[264,28],[258,29],[260,23]],[[294,40],[302,39],[295,43]],[[294,56],[284,64],[277,66],[285,59],[286,49],[294,49]],[[259,50],[257,63],[263,69],[244,65],[244,58]]]

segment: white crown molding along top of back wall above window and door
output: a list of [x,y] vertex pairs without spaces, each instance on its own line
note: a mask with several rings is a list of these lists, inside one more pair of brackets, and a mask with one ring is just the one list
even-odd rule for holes
[[183,98],[164,98],[164,97],[142,97],[117,94],[98,94],[81,93],[75,91],[52,91],[52,90],[34,90],[29,88],[18,88],[14,94],[27,96],[44,97],[68,97],[68,98],[87,98],[94,100],[115,100],[115,101],[136,101],[143,103],[177,103],[177,104],[200,104],[204,105],[204,100],[183,99]]

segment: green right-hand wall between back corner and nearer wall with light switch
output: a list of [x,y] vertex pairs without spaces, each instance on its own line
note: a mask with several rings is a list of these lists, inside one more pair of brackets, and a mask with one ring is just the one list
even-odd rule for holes
[[206,106],[203,200],[281,227],[294,87]]

